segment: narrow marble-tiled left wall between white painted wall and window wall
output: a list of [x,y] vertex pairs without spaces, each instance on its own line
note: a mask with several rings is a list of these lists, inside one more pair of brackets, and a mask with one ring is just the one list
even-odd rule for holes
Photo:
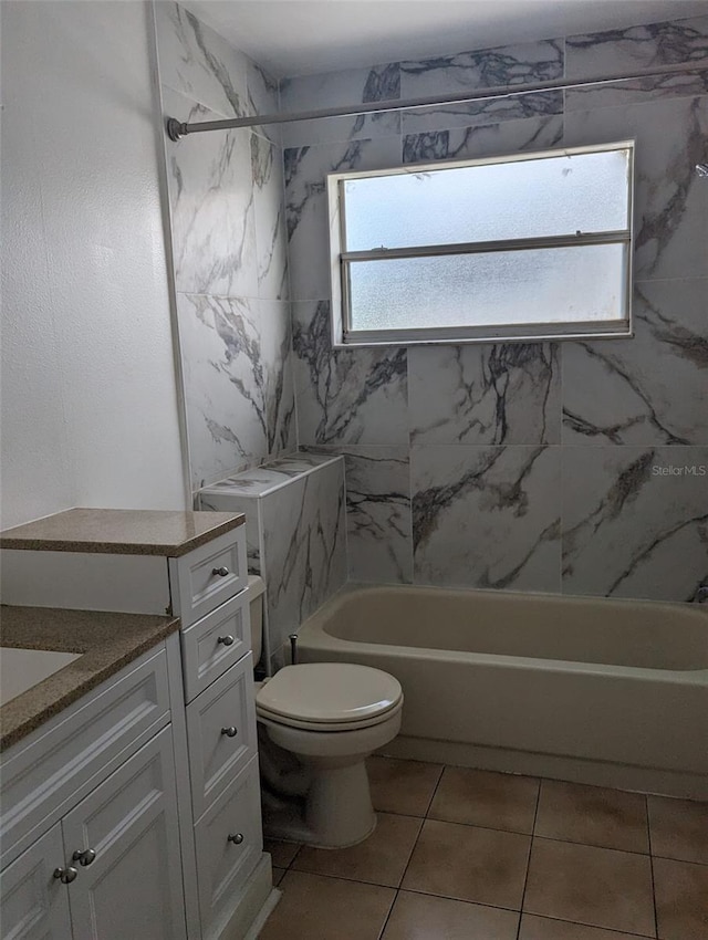
[[[278,111],[278,83],[157,0],[165,116]],[[192,488],[296,449],[283,160],[274,127],[165,138]]]

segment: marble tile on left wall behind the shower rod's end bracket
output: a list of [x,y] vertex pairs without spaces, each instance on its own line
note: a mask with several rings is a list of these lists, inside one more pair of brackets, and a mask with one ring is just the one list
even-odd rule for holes
[[[163,103],[178,118],[214,117],[169,88]],[[257,296],[251,132],[201,134],[166,148],[177,291]]]

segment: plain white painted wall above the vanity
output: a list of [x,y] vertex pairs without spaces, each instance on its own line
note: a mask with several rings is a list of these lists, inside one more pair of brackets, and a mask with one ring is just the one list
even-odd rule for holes
[[2,525],[184,508],[149,10],[0,7]]

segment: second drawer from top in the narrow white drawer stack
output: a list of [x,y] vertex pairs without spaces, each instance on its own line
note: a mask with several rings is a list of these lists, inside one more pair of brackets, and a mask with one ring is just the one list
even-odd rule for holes
[[241,593],[181,634],[185,701],[190,702],[251,649],[248,595]]

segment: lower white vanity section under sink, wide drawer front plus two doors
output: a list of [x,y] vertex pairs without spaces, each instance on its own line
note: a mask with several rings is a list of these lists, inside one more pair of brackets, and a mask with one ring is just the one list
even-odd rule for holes
[[3,937],[186,940],[160,646],[3,761]]

